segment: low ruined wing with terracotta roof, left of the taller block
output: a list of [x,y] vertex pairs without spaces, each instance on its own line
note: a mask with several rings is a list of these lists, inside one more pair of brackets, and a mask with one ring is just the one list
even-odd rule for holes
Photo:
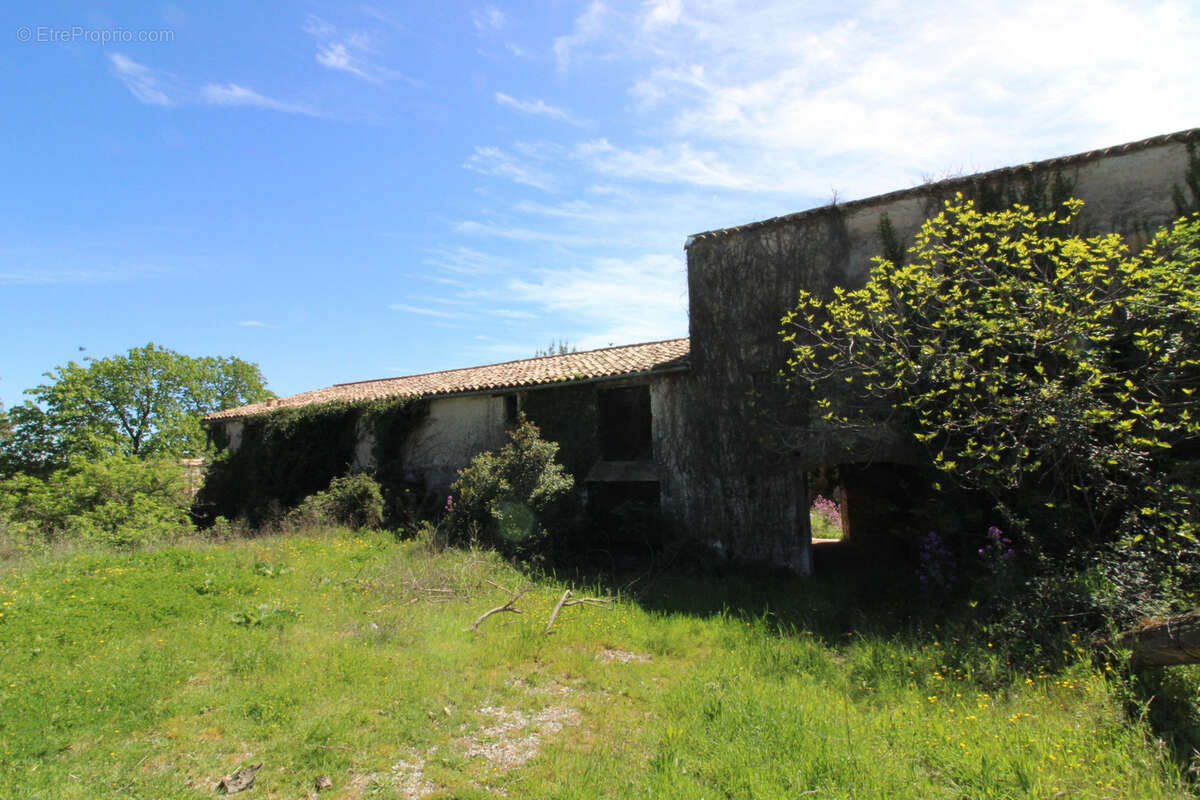
[[[337,384],[217,411],[204,425],[227,450],[238,451],[246,425],[272,411],[408,398],[421,404],[421,413],[398,443],[402,477],[444,497],[458,470],[475,453],[503,445],[505,431],[524,414],[559,443],[559,459],[584,491],[673,506],[678,473],[665,465],[686,446],[672,407],[686,371],[688,339],[667,339]],[[353,415],[348,420],[354,446],[344,468],[376,469],[378,434]]]

